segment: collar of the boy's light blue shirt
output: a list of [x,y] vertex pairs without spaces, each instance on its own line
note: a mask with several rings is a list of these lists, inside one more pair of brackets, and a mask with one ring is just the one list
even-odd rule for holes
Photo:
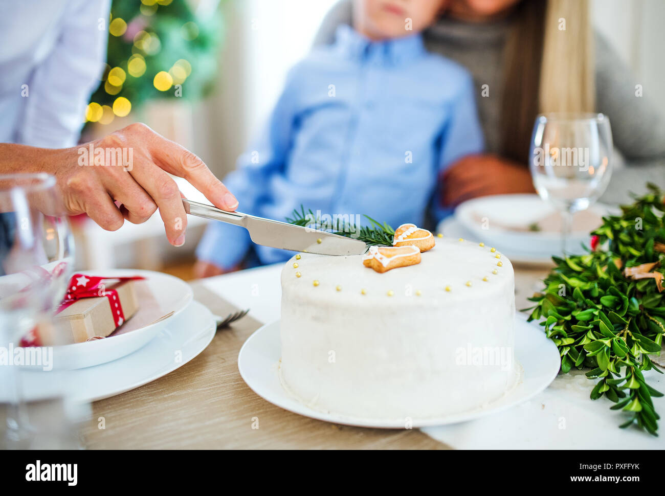
[[371,41],[349,25],[337,27],[335,45],[341,53],[360,61],[400,64],[424,55],[420,34],[386,41]]

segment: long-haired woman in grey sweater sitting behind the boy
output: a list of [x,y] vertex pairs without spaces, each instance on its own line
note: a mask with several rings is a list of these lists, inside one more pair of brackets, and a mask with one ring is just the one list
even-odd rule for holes
[[[315,43],[328,43],[350,17],[340,1]],[[665,119],[636,96],[630,70],[594,33],[587,0],[450,0],[425,35],[430,51],[473,75],[485,134],[485,154],[446,170],[444,204],[533,191],[529,140],[540,112],[602,112],[627,160],[665,156]]]

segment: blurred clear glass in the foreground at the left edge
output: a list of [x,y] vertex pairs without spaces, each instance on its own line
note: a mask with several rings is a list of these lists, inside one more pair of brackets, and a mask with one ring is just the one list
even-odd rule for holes
[[[49,332],[53,344],[59,342],[59,331],[50,322],[65,295],[73,255],[72,235],[55,178],[48,174],[0,175],[0,347],[4,348],[0,351],[6,357],[0,365],[0,403],[8,405],[7,447],[34,445],[36,431],[22,382],[35,368],[31,360],[48,354],[19,348],[26,336],[41,331]],[[42,404],[57,398],[58,392],[49,395],[52,398],[39,398]]]

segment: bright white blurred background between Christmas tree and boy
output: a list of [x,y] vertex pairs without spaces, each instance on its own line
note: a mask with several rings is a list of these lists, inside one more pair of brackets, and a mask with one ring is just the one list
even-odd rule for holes
[[235,167],[312,46],[336,0],[227,0],[219,91],[198,108],[198,153],[217,176]]

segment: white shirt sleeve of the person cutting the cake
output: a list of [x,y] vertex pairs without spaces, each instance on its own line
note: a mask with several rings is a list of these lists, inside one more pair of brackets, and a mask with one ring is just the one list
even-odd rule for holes
[[51,53],[33,70],[17,141],[45,148],[78,142],[106,60],[110,0],[71,0]]

